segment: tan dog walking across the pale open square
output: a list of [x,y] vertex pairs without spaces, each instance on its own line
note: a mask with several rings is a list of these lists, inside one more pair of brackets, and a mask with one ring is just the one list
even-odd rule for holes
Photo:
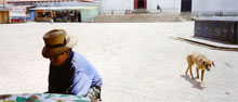
[[[201,85],[204,85],[203,82],[203,77],[204,77],[204,71],[210,71],[211,66],[215,66],[215,64],[213,63],[213,61],[209,60],[208,58],[206,58],[202,54],[198,54],[196,52],[190,53],[187,55],[187,64],[188,67],[186,69],[186,74],[188,72],[188,69],[190,69],[190,76],[193,79],[198,79],[199,78],[199,69],[201,69]],[[194,78],[193,72],[191,72],[191,67],[193,65],[196,64],[197,65],[197,77]]]

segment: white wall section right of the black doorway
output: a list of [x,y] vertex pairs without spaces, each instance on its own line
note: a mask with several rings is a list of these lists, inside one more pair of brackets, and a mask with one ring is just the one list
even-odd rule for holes
[[194,0],[193,14],[196,16],[237,16],[238,0]]

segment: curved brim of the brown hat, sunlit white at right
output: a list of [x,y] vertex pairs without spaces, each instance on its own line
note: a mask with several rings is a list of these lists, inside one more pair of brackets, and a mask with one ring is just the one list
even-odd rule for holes
[[52,56],[56,56],[65,51],[67,51],[68,49],[71,49],[72,47],[76,46],[77,43],[77,39],[75,37],[69,36],[68,37],[69,41],[60,48],[48,48],[48,47],[43,47],[42,50],[42,55],[47,59],[52,58]]

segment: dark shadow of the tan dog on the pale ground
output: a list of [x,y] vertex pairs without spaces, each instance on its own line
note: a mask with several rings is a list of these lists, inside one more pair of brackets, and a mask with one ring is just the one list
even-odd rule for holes
[[199,90],[203,90],[206,88],[206,87],[202,87],[199,81],[191,79],[189,77],[189,75],[185,74],[185,75],[181,75],[181,77],[184,78],[185,80],[189,81],[193,85],[191,88],[197,88]]

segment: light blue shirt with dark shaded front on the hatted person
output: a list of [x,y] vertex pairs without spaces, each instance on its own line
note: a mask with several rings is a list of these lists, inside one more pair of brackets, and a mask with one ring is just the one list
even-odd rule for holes
[[49,92],[85,97],[90,87],[102,87],[96,68],[81,54],[71,51],[61,66],[50,65]]

